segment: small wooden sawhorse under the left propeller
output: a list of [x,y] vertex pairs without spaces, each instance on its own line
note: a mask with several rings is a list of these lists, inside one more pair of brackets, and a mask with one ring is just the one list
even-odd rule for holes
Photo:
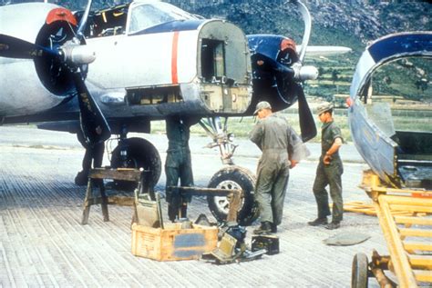
[[[101,204],[104,222],[109,221],[108,204],[117,204],[120,206],[134,206],[134,218],[136,218],[136,199],[138,194],[143,191],[149,192],[148,181],[145,181],[144,174],[148,171],[143,169],[130,169],[130,168],[95,168],[91,169],[88,173],[88,184],[86,198],[84,199],[84,211],[81,224],[88,223],[88,215],[90,214],[91,205]],[[124,195],[107,195],[104,179],[130,181],[137,183],[137,189],[134,196]],[[93,194],[93,187],[98,185],[100,195],[95,197]],[[132,220],[133,222],[134,220]]]

